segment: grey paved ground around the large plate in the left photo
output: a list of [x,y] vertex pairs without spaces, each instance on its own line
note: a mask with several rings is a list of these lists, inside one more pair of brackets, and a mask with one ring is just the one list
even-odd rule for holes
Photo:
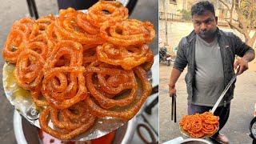
[[[38,13],[40,16],[46,14],[58,14],[58,5],[57,1],[53,0],[44,0],[39,1],[35,0],[38,6]],[[131,15],[132,18],[138,18],[142,21],[148,20],[154,22],[155,30],[158,30],[158,1],[139,1],[137,6],[134,8],[134,12]],[[146,11],[147,10],[147,11]],[[145,15],[142,15],[142,11],[146,11]],[[29,11],[26,6],[26,0],[21,1],[12,1],[6,0],[1,1],[0,5],[0,47],[4,45],[6,41],[6,36],[9,33],[10,26],[15,20],[29,16]],[[151,45],[153,48],[154,54],[158,52],[158,31],[156,34],[155,41]],[[1,50],[2,53],[2,50]],[[2,55],[2,54],[1,54]],[[3,66],[3,59],[0,56],[0,67]],[[2,69],[0,72],[0,143],[14,144],[16,140],[14,138],[13,130],[13,113],[14,107],[10,105],[10,102],[5,97],[3,88],[2,88]],[[157,110],[158,111],[158,110]],[[157,112],[156,111],[156,112]],[[158,125],[154,125],[157,128]]]

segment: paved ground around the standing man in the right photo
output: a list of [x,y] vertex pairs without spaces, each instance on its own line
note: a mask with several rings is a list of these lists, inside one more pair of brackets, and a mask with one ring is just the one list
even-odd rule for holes
[[[159,86],[159,131],[160,141],[166,142],[170,139],[182,136],[178,130],[178,123],[170,121],[171,98],[168,96],[167,84],[170,78],[170,66],[160,64],[160,86]],[[187,94],[184,81],[186,70],[177,82],[177,118],[187,114]],[[231,143],[247,144],[252,139],[248,136],[250,120],[253,118],[254,103],[256,102],[256,72],[246,71],[238,76],[234,99],[231,102],[230,118],[222,133],[230,138]]]

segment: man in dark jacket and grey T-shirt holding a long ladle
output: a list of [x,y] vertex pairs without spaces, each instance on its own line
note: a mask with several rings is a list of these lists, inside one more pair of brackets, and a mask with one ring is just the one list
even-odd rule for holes
[[[194,30],[178,45],[177,58],[170,75],[170,95],[176,94],[175,83],[186,66],[188,114],[203,113],[217,102],[222,91],[234,76],[235,70],[242,74],[248,62],[254,59],[254,50],[233,33],[218,29],[218,18],[210,2],[198,2],[191,8]],[[234,62],[235,55],[241,57]],[[230,86],[214,115],[220,120],[219,130],[225,125],[230,113],[230,101],[234,84]],[[228,143],[225,135],[217,132],[212,137]]]

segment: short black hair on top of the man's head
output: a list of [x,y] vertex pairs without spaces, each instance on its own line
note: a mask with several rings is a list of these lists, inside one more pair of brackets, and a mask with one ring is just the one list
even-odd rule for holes
[[215,16],[214,5],[208,1],[201,1],[194,4],[191,7],[191,15],[192,17],[194,14],[202,15],[206,10],[210,11]]

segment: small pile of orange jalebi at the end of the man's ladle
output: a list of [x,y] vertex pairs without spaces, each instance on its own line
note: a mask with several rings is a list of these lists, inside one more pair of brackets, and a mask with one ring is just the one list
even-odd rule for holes
[[185,115],[182,117],[179,125],[192,138],[202,138],[212,136],[218,131],[218,119],[218,116],[214,116],[210,112]]

